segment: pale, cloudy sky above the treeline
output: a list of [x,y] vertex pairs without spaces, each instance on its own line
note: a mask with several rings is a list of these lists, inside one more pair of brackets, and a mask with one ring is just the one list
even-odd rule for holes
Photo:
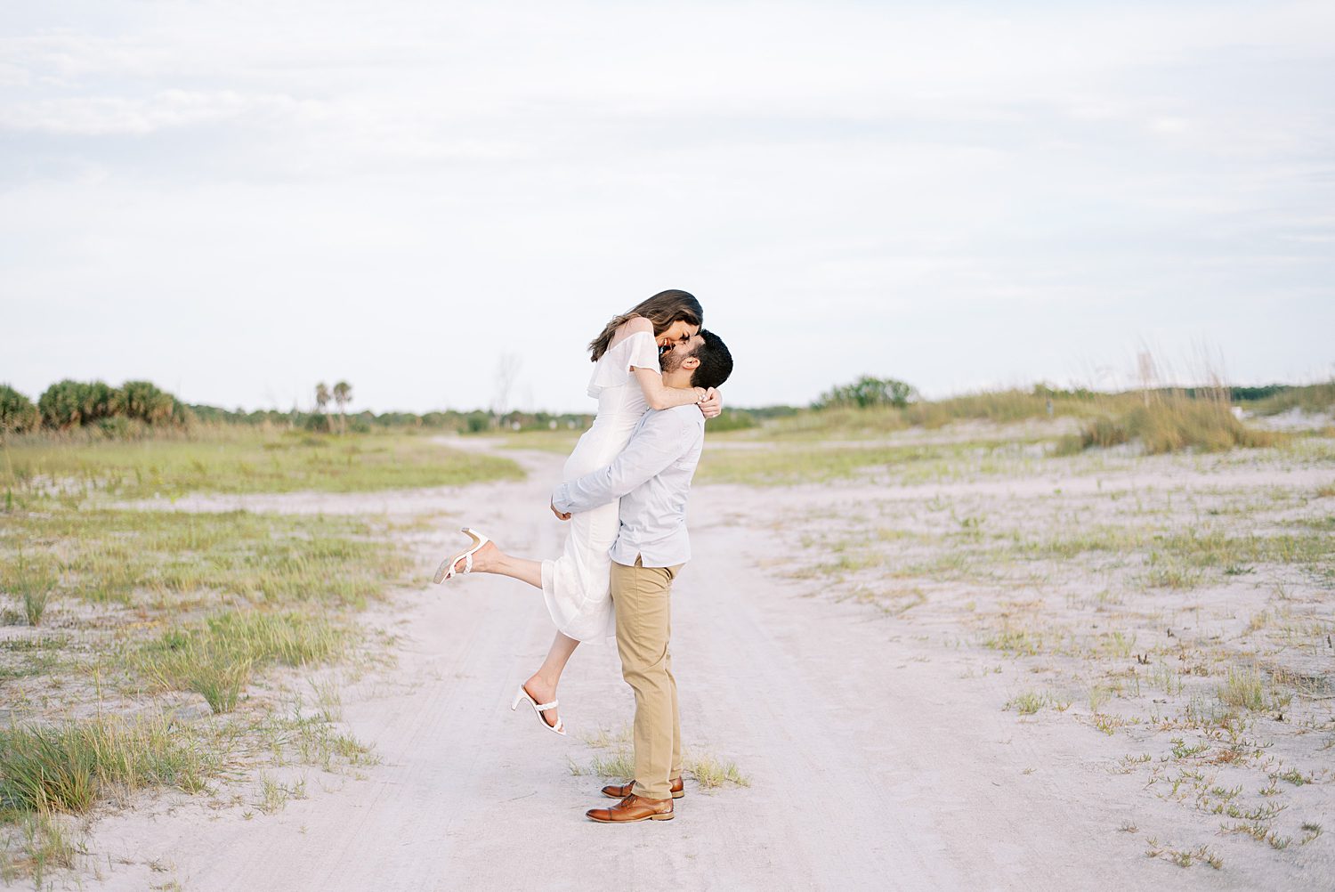
[[733,406],[1330,379],[1335,4],[0,5],[33,399],[591,410],[663,288]]

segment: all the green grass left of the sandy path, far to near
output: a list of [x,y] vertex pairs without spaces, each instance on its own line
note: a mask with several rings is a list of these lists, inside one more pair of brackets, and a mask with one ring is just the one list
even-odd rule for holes
[[[198,792],[224,768],[234,773],[252,765],[255,753],[328,770],[375,761],[370,746],[322,717],[302,717],[300,706],[290,718],[274,716],[279,706],[271,688],[252,708],[190,725],[124,720],[115,710],[152,704],[164,690],[191,690],[212,712],[227,713],[270,666],[346,658],[351,610],[380,597],[413,566],[392,537],[395,526],[346,515],[117,510],[105,506],[105,495],[351,491],[521,477],[507,459],[409,435],[211,437],[27,438],[5,450],[4,622],[36,625],[48,602],[59,602],[75,624],[68,636],[23,629],[0,641],[0,693],[7,705],[13,694],[16,722],[0,728],[0,873],[7,880],[23,875],[41,884],[49,869],[73,864],[73,837],[51,816],[87,815],[99,801],[146,787]],[[136,609],[80,612],[80,601]],[[28,681],[35,676],[47,680]],[[112,696],[105,712],[104,681]],[[52,690],[59,693],[52,697]],[[67,716],[93,712],[93,697],[97,718],[49,717],[56,706]],[[336,692],[326,690],[322,716],[331,697]],[[299,783],[268,789],[266,801],[275,793],[299,795]]]

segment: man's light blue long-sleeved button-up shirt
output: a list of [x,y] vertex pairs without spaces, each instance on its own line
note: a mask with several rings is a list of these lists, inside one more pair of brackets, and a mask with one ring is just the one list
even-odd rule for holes
[[621,530],[611,560],[634,566],[677,566],[690,560],[686,497],[705,446],[700,407],[647,411],[617,459],[551,493],[558,511],[581,513],[621,499]]

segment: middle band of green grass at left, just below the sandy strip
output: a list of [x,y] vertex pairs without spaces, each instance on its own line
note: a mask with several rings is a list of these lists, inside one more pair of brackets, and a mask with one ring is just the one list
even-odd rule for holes
[[363,519],[336,515],[21,511],[0,527],[0,590],[40,578],[95,602],[215,593],[360,606],[410,566],[382,537]]

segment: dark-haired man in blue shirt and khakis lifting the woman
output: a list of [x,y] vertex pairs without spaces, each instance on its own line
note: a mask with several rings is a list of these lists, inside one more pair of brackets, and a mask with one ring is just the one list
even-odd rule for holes
[[[721,387],[733,371],[728,347],[710,331],[662,358],[669,387]],[[681,721],[668,641],[677,572],[690,560],[686,497],[705,445],[705,419],[693,406],[649,411],[625,451],[607,467],[562,483],[551,494],[561,519],[621,499],[621,527],[611,546],[611,601],[617,612],[621,676],[635,692],[635,778],[609,785],[621,799],[589,809],[602,824],[666,821],[681,780]]]

